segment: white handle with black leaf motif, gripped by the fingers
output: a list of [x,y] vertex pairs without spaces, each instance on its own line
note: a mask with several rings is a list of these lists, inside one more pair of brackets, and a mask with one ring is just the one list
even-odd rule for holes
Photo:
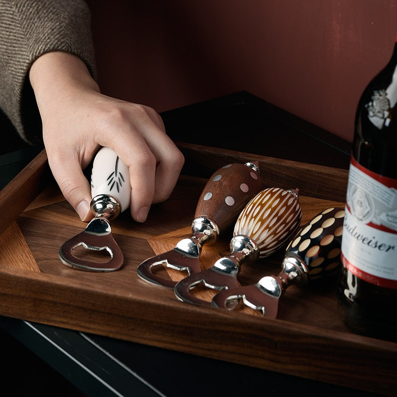
[[130,206],[131,183],[129,168],[116,152],[102,147],[96,154],[91,173],[91,195],[111,196],[121,205],[121,211]]

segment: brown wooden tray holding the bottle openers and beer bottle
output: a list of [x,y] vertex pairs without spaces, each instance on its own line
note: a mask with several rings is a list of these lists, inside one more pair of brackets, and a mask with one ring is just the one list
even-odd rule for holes
[[[0,314],[397,396],[397,344],[344,327],[334,278],[305,290],[290,286],[277,320],[269,320],[189,305],[172,290],[137,277],[142,261],[190,236],[207,178],[230,162],[257,160],[265,187],[299,188],[303,223],[322,209],[344,206],[346,170],[178,145],[187,162],[171,198],[153,205],[144,224],[133,222],[129,213],[112,222],[125,265],[111,273],[61,264],[59,247],[85,224],[48,176],[45,152],[37,156],[0,194]],[[43,181],[47,187],[35,198]],[[230,238],[225,234],[204,248],[203,266],[229,252]],[[243,265],[240,282],[278,272],[282,256]]]

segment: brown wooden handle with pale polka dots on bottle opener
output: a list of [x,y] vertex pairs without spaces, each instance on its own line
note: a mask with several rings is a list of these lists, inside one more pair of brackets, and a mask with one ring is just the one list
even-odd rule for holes
[[254,163],[225,165],[206,183],[195,218],[212,220],[220,231],[232,226],[244,206],[263,189],[259,168]]

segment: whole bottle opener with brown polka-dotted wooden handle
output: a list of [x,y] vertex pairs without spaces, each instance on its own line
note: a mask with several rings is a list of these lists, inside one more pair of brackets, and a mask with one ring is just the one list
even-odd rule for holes
[[173,250],[142,262],[136,270],[138,276],[174,288],[177,282],[161,277],[156,270],[166,266],[189,275],[199,272],[202,246],[215,243],[219,233],[232,226],[247,202],[263,189],[258,174],[258,166],[251,162],[228,164],[217,170],[200,195],[191,237],[181,240]]

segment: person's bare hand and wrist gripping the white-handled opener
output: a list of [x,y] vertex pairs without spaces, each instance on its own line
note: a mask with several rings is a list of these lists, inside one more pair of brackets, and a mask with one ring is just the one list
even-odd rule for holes
[[80,219],[92,217],[83,169],[107,146],[130,169],[132,218],[145,221],[150,205],[170,196],[184,163],[161,117],[147,106],[101,94],[85,64],[68,53],[42,55],[29,78],[50,168]]

